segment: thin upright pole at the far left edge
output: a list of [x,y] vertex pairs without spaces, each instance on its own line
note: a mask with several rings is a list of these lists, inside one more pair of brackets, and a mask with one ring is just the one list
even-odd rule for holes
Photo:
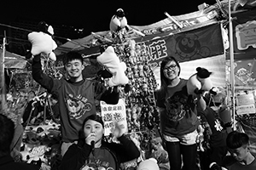
[[1,59],[0,59],[0,77],[1,77],[1,85],[0,85],[0,90],[1,90],[1,110],[4,111],[5,110],[5,77],[4,77],[4,55],[5,55],[5,42],[6,41],[6,37],[5,37],[5,31],[4,31],[4,37],[3,37],[3,53],[1,55]]

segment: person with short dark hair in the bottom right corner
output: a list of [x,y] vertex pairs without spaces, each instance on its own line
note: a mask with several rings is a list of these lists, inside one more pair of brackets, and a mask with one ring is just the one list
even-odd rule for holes
[[247,133],[233,131],[226,139],[230,156],[224,159],[224,167],[229,170],[255,170],[256,159],[250,152]]

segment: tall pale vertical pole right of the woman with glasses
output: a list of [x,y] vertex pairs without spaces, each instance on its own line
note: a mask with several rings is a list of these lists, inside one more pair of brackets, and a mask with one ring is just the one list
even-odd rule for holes
[[[234,42],[233,42],[233,26],[231,18],[231,0],[229,0],[229,26],[230,26],[230,88],[231,88],[231,111],[233,122],[236,121],[236,106],[235,106],[235,73],[234,73]],[[236,130],[235,123],[233,129]]]

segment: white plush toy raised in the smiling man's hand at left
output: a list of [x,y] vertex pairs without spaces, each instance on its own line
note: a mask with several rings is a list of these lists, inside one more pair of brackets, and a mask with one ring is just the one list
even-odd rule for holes
[[[28,40],[32,43],[32,55],[43,54],[49,56],[49,59],[56,60],[55,53],[57,48],[56,42],[52,36],[54,34],[52,26],[46,25],[44,22],[39,23],[39,31],[32,31],[28,34]],[[44,27],[48,27],[45,31]]]

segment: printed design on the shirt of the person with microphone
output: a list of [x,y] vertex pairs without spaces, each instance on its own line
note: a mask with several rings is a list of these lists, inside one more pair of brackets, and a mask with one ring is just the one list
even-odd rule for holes
[[113,167],[109,167],[107,161],[97,160],[96,162],[89,161],[84,164],[80,170],[114,170]]

